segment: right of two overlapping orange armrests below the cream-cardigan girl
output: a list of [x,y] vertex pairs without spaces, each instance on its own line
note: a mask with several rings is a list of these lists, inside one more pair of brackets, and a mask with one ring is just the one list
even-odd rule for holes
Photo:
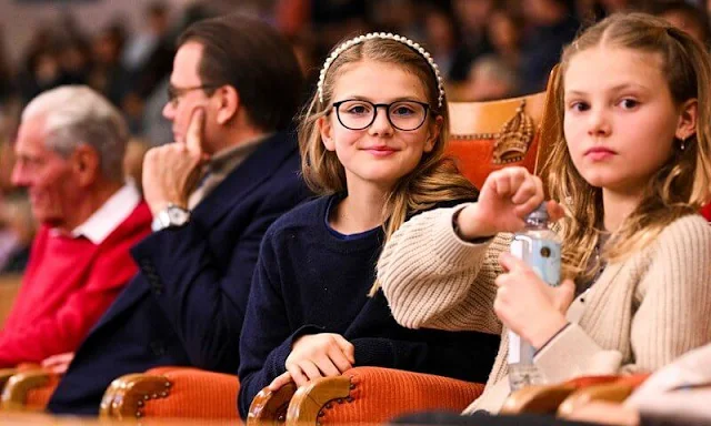
[[560,404],[558,415],[561,417],[570,416],[575,409],[593,400],[621,403],[627,399],[647,377],[649,377],[649,374],[620,376],[612,383],[598,384],[578,389]]

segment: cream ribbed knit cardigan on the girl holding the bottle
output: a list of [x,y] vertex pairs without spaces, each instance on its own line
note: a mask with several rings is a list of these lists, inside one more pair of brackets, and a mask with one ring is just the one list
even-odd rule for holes
[[[470,244],[452,229],[464,204],[422,213],[385,245],[378,278],[405,327],[501,334],[484,393],[464,413],[497,413],[509,395],[508,333],[493,313],[498,256],[511,234]],[[681,217],[625,261],[611,263],[568,310],[571,322],[535,356],[550,383],[581,375],[653,372],[711,342],[711,226]],[[477,359],[472,359],[475,363]]]

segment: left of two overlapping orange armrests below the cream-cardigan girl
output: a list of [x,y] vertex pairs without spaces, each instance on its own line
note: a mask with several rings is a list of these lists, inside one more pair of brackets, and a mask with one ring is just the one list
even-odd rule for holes
[[575,390],[615,382],[620,376],[583,376],[555,385],[527,386],[513,392],[501,407],[501,414],[554,414],[559,405]]

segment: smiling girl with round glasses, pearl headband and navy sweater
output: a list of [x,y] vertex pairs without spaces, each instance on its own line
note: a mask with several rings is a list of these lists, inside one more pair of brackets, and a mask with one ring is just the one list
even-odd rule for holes
[[333,50],[299,129],[303,176],[321,197],[262,242],[240,338],[242,416],[267,385],[353,366],[485,379],[498,335],[408,329],[373,290],[382,245],[407,219],[475,197],[443,159],[448,125],[419,44],[373,33]]

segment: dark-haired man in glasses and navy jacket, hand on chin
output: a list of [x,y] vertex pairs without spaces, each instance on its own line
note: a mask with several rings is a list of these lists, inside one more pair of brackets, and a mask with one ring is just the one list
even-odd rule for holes
[[110,382],[162,365],[236,373],[239,335],[267,227],[308,196],[290,128],[302,75],[267,24],[200,21],[179,40],[163,114],[176,143],[143,164],[154,233],[140,272],[92,329],[49,404],[97,414]]

